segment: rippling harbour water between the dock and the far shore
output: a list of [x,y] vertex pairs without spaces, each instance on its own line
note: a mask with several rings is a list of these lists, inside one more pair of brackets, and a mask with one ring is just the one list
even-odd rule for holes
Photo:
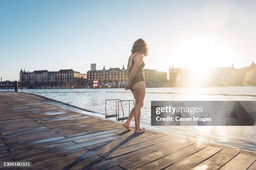
[[[6,91],[6,90],[4,90]],[[10,90],[13,91],[13,90]],[[33,89],[28,90],[38,95],[83,107],[105,114],[105,99],[120,98],[133,100],[130,91],[124,89]],[[166,87],[146,88],[146,97],[141,113],[141,126],[149,130],[172,133],[193,138],[199,142],[225,145],[232,148],[248,150],[256,153],[256,126],[156,126],[150,125],[151,100],[256,100],[256,87]],[[132,104],[132,103],[131,103]],[[123,106],[125,116],[128,115],[128,103]],[[256,121],[256,106],[249,110],[249,115]],[[132,108],[132,106],[131,106]],[[115,113],[115,102],[108,102],[108,114]],[[121,112],[121,110],[120,110]],[[97,113],[91,115],[104,117]],[[114,120],[114,118],[112,118]],[[134,122],[132,122],[134,125]]]

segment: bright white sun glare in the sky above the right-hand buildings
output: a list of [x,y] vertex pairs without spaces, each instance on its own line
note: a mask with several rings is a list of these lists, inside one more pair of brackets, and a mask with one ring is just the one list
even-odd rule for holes
[[214,35],[185,37],[175,49],[175,60],[183,67],[199,69],[231,65],[233,50],[228,43]]

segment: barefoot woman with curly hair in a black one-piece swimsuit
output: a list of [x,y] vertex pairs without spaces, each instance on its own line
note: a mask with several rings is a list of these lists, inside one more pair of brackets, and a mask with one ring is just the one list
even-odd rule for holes
[[145,97],[145,81],[143,75],[143,57],[148,55],[148,46],[143,39],[138,39],[133,43],[131,50],[132,54],[128,59],[126,75],[128,77],[128,84],[125,86],[125,90],[131,90],[135,99],[135,107],[131,110],[126,122],[123,124],[125,128],[131,130],[130,122],[135,119],[135,131],[134,133],[143,133],[146,131],[145,128],[140,128],[141,119],[141,107],[143,106],[143,100]]

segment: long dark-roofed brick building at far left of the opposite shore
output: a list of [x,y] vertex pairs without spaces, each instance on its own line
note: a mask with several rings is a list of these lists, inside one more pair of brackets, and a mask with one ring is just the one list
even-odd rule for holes
[[79,85],[85,86],[87,75],[81,74],[72,69],[48,71],[35,70],[33,72],[20,70],[20,83],[23,85],[68,85],[68,87],[75,87]]

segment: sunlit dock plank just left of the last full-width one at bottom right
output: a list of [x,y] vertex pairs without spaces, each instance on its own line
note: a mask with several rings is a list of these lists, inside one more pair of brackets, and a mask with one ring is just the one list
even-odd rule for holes
[[221,166],[233,159],[239,153],[233,150],[223,149],[209,159],[195,166],[191,170],[218,170]]

